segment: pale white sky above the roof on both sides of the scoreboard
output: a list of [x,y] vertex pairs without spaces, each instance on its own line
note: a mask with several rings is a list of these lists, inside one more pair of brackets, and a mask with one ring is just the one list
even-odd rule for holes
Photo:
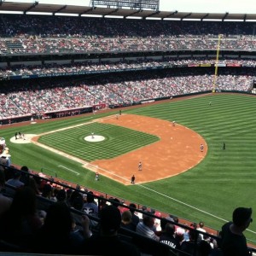
[[[91,6],[90,0],[37,0],[39,3]],[[30,2],[33,0],[6,0],[6,2]],[[160,0],[161,11],[256,14],[256,0]]]

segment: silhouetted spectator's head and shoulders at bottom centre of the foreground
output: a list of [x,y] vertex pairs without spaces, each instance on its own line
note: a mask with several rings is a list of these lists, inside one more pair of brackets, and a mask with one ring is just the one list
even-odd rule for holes
[[121,214],[117,207],[112,205],[103,207],[100,212],[100,232],[93,234],[80,247],[80,254],[85,255],[141,255],[137,247],[123,241],[118,236],[121,225]]

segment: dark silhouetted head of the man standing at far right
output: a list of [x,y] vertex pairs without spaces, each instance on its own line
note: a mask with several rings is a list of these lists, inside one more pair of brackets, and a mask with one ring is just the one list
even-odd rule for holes
[[253,221],[252,213],[252,208],[236,208],[233,212],[233,223],[242,230],[246,230],[249,224]]

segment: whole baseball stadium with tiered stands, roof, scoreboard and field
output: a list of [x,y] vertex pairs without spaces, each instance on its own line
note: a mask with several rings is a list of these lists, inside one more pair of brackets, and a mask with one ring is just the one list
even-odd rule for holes
[[[59,201],[60,190],[67,206],[69,190],[84,195],[84,204],[93,194],[99,212],[101,201],[114,201],[121,214],[135,204],[142,224],[154,217],[157,241],[119,231],[139,255],[253,255],[256,15],[160,11],[156,0],[91,2],[0,0],[0,194],[12,201],[0,210],[0,254],[90,252],[58,251],[58,241],[56,250],[43,250],[46,239],[35,242],[39,250],[11,238],[18,233],[7,216],[15,216],[11,206],[29,185],[9,180],[20,173],[21,181],[27,166],[41,182],[38,201],[51,187],[51,197],[38,204],[46,215],[39,234],[42,227],[46,232],[47,207]],[[16,194],[5,195],[10,187]],[[100,219],[84,209],[75,213]],[[235,223],[235,209],[251,211],[239,235],[247,254],[221,245],[219,233]],[[162,248],[162,235],[155,235],[163,232],[163,218],[173,237],[182,230],[176,248]],[[196,234],[192,251],[183,249],[187,231]],[[126,255],[112,250],[106,255]]]

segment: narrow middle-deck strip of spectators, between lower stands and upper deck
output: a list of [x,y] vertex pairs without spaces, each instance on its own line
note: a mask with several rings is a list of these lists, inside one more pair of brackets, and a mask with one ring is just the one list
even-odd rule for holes
[[[150,69],[150,68],[166,68],[166,67],[195,67],[200,65],[214,66],[216,59],[213,58],[170,58],[165,57],[160,60],[139,59],[134,61],[101,61],[91,62],[75,62],[73,64],[44,64],[42,66],[25,66],[13,65],[10,67],[0,67],[0,78],[11,79],[14,76],[36,76],[47,77],[49,75],[56,76],[61,74],[79,74],[79,73],[104,73],[105,71],[125,71],[129,69]],[[218,66],[223,67],[255,67],[256,60],[253,59],[219,59]]]

